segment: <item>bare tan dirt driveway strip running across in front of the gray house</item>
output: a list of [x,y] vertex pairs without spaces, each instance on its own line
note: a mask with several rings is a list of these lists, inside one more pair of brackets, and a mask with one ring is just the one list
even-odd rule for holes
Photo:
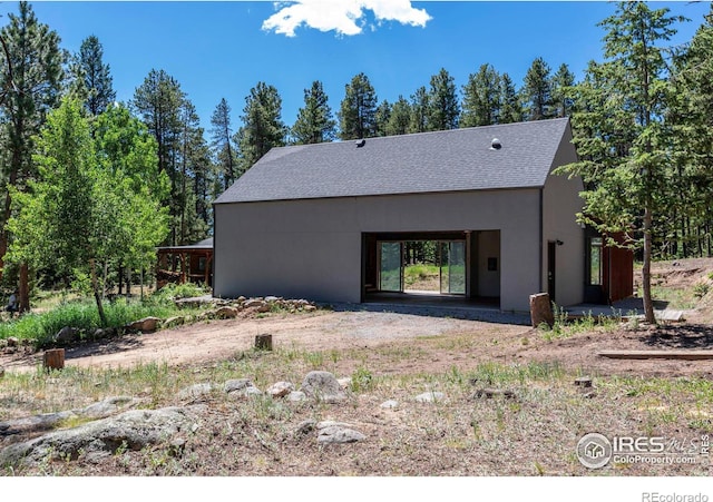
[[[382,373],[445,372],[452,366],[468,370],[485,361],[505,364],[551,361],[572,371],[580,368],[600,375],[713,375],[713,361],[618,361],[598,356],[600,351],[615,348],[707,348],[713,345],[713,331],[706,325],[676,324],[636,331],[622,326],[553,339],[520,325],[385,312],[324,311],[211,321],[153,334],[126,335],[68,348],[66,364],[77,367],[130,367],[149,362],[204,364],[250,350],[258,334],[272,334],[275,350],[367,351],[370,365]],[[398,361],[384,358],[381,355],[384,350],[400,351],[404,356]],[[0,366],[7,371],[30,372],[40,363],[41,353],[0,356]],[[349,365],[349,357],[342,357],[341,364]]]

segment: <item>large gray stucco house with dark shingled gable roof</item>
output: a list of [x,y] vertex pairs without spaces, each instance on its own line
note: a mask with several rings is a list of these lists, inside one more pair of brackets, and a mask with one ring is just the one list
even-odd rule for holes
[[436,295],[529,309],[585,291],[569,120],[273,148],[214,203],[214,295],[368,302],[404,287],[404,246],[436,243]]

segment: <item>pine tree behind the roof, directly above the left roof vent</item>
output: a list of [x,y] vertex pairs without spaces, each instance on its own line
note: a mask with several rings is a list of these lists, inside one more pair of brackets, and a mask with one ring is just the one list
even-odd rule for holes
[[371,138],[377,135],[377,92],[364,73],[345,86],[339,116],[340,139]]

